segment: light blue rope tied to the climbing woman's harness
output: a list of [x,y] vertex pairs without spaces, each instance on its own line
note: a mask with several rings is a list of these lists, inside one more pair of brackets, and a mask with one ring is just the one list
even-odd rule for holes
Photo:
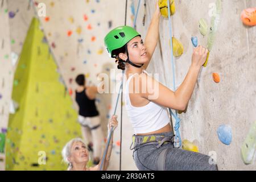
[[[174,92],[175,92],[176,84],[175,84],[174,52],[173,52],[173,48],[172,48],[172,22],[171,22],[170,11],[171,11],[170,0],[168,0],[168,22],[169,22],[170,39],[171,39],[172,78],[173,78]],[[179,131],[181,119],[177,115],[177,110],[175,110],[175,114],[174,114],[170,108],[168,108],[168,109],[169,109],[169,112],[171,113],[171,115],[175,118],[175,121],[176,121],[175,126],[174,126],[175,139],[176,139],[176,142],[177,142],[177,140],[179,140],[179,147],[181,147],[181,137],[180,137],[180,131]]]

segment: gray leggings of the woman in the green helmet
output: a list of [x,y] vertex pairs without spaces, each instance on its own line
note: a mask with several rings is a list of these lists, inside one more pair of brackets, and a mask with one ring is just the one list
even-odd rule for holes
[[[160,133],[154,134],[172,137],[174,134]],[[147,135],[148,136],[148,135]],[[191,152],[174,148],[174,144],[163,144],[157,148],[158,144],[138,144],[133,151],[133,159],[140,171],[217,171],[217,165],[210,164],[210,156],[197,152]],[[165,150],[167,148],[167,150]],[[159,169],[160,153],[165,150],[166,158],[163,160],[163,168]]]

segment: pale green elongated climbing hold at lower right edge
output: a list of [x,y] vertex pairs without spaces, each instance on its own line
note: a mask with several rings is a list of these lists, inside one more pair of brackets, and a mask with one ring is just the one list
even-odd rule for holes
[[243,163],[251,164],[254,159],[256,150],[256,121],[251,126],[249,133],[246,135],[246,138],[241,147],[241,155]]

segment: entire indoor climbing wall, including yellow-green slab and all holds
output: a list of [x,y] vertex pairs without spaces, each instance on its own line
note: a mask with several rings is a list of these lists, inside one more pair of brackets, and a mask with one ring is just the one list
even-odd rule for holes
[[[77,105],[74,100],[75,77],[80,73],[85,74],[87,85],[97,85],[100,82],[97,79],[98,73],[106,73],[109,76],[109,90],[115,89],[114,93],[99,94],[96,100],[104,134],[107,136],[106,126],[114,112],[121,82],[118,73],[121,72],[116,69],[114,60],[106,53],[104,37],[110,30],[125,23],[125,2],[125,0],[4,0],[1,2],[0,19],[4,22],[0,25],[2,46],[0,134],[3,133],[1,136],[7,131],[9,105],[10,112],[14,113],[10,114],[6,139],[7,170],[66,169],[67,166],[61,163],[60,150],[69,139],[80,135],[80,126],[76,121]],[[139,5],[136,25],[142,38],[145,38],[156,1],[128,0],[127,2],[127,25],[134,26]],[[182,54],[174,58],[176,88],[182,83],[191,65],[191,55],[196,42],[210,49],[207,67],[201,69],[187,110],[178,115],[181,118],[183,148],[192,146],[194,151],[212,155],[221,170],[255,169],[255,160],[252,159],[255,142],[251,138],[256,133],[254,126],[256,125],[256,28],[243,25],[240,14],[247,7],[256,7],[256,2],[253,0],[175,0],[174,2],[176,12],[171,16],[172,36],[175,38],[173,44],[178,48],[174,53]],[[40,3],[45,5],[46,14],[39,17],[39,22],[34,19],[31,24],[33,17],[44,13],[42,9],[44,6]],[[213,12],[216,14],[213,15]],[[168,18],[160,18],[159,28],[160,41],[147,71],[158,74],[156,75],[158,80],[174,90]],[[29,41],[33,42],[30,46],[28,46]],[[27,59],[29,52],[31,57]],[[35,60],[41,60],[40,64],[35,64]],[[41,71],[42,68],[44,72]],[[52,79],[48,80],[48,78]],[[46,89],[47,85],[56,88],[56,92],[51,93],[51,89]],[[19,89],[23,91],[22,97],[18,94]],[[49,99],[35,100],[36,94]],[[59,102],[64,107],[56,111],[55,106],[51,105],[52,102]],[[124,100],[122,105],[123,102]],[[47,107],[44,107],[45,105]],[[43,116],[42,111],[47,114]],[[114,146],[108,169],[119,169],[121,152],[121,169],[137,170],[133,161],[133,152],[130,151],[131,135],[134,132],[125,105],[122,111],[121,136],[119,100],[117,107],[119,126],[114,133]],[[20,118],[24,119],[23,122],[15,122]],[[175,118],[172,118],[172,122],[175,124]],[[53,131],[53,128],[57,130]],[[61,138],[60,136],[63,135],[65,137]],[[27,148],[28,144],[30,147]],[[3,145],[0,141],[0,149],[1,146]],[[46,165],[37,164],[40,148],[46,150]],[[247,165],[242,160],[246,157],[249,160]],[[4,163],[5,155],[0,154],[0,169],[3,169]]]

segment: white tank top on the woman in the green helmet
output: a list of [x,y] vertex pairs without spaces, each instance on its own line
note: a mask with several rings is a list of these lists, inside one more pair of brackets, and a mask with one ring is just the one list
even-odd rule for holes
[[[146,71],[144,73],[148,74]],[[135,107],[131,105],[129,97],[129,83],[137,73],[130,76],[126,81],[125,88],[125,102],[127,114],[130,118],[135,134],[150,133],[166,126],[170,119],[167,109],[150,101],[147,105],[142,107]]]

